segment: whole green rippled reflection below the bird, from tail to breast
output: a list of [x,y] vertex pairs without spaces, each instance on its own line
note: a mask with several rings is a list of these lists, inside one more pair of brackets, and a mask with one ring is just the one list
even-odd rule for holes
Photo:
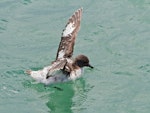
[[[24,87],[32,88],[39,92],[40,98],[46,99],[46,106],[50,113],[72,113],[82,111],[82,104],[87,99],[87,93],[93,88],[87,85],[83,78],[67,83],[44,86],[43,84],[25,81]],[[54,87],[61,88],[58,90]]]

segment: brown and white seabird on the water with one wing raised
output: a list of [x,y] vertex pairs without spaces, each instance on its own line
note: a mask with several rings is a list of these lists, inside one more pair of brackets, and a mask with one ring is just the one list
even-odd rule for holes
[[37,71],[26,70],[25,73],[38,83],[51,85],[74,81],[81,77],[83,67],[94,68],[90,65],[89,58],[83,54],[73,58],[74,44],[80,29],[82,11],[83,8],[76,10],[63,29],[56,59],[43,69]]

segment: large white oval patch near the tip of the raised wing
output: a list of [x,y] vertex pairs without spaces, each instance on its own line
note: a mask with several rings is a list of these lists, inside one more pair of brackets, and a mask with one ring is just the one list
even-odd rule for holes
[[65,28],[65,30],[64,30],[64,32],[63,32],[63,37],[66,37],[66,36],[68,36],[69,34],[71,34],[74,29],[75,29],[74,23],[69,23],[69,24],[66,26],[66,28]]

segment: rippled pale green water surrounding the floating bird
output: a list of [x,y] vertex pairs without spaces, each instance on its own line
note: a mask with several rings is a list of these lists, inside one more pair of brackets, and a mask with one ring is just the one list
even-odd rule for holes
[[[67,19],[83,7],[75,82],[44,87],[24,74],[55,59]],[[149,113],[149,0],[0,0],[0,113]]]

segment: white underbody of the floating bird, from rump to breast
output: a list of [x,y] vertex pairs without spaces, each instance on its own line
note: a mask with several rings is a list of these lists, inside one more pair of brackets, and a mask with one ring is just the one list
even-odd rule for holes
[[52,75],[48,75],[48,70],[51,66],[44,67],[42,70],[32,71],[31,77],[35,79],[39,83],[43,83],[46,85],[59,83],[59,82],[67,82],[70,80],[75,80],[81,76],[82,69],[77,69],[74,72],[72,71],[70,74],[64,73],[62,70],[57,70],[52,73]]

